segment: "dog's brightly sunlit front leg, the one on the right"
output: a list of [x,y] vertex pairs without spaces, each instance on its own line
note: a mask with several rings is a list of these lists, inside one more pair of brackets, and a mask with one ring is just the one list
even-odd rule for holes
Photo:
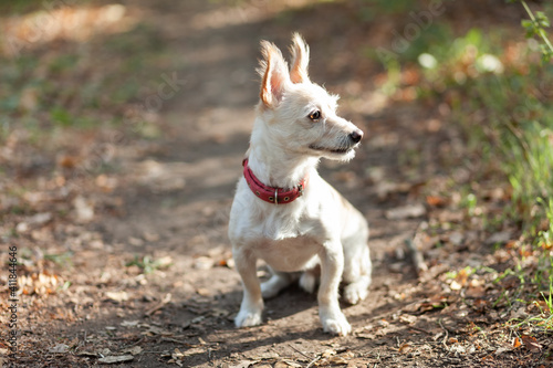
[[344,253],[340,241],[324,245],[321,256],[321,286],[319,287],[319,315],[326,333],[345,336],[352,326],[340,309],[338,287],[344,270]]

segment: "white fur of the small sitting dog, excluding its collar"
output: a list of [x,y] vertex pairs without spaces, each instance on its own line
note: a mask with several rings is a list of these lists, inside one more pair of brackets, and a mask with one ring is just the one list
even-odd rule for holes
[[[316,171],[321,157],[349,160],[363,133],[336,115],[337,96],[312,83],[309,48],[293,35],[289,71],[280,50],[262,41],[260,103],[248,150],[249,166],[263,183],[294,188],[306,175],[304,194],[286,204],[257,198],[242,177],[232,203],[229,239],[244,286],[238,327],[261,323],[263,298],[276,295],[298,278],[307,292],[319,287],[320,317],[325,332],[347,335],[351,326],[338,303],[358,303],[368,294],[371,257],[364,217]],[[320,112],[320,118],[314,119]],[[311,116],[311,117],[310,117]],[[352,138],[357,135],[358,139]],[[260,285],[255,263],[267,262],[270,280]]]

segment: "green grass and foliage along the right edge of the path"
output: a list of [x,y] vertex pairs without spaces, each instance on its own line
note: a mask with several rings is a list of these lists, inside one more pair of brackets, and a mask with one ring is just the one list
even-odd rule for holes
[[[551,18],[552,8],[547,11]],[[520,233],[513,250],[518,255],[497,280],[512,274],[519,286],[504,291],[495,303],[509,307],[517,299],[545,301],[546,307],[525,323],[552,329],[553,63],[541,62],[536,42],[526,43],[523,36],[522,28],[500,25],[455,35],[439,20],[403,52],[368,55],[388,73],[384,93],[405,87],[401,72],[416,67],[422,76],[415,86],[418,98],[450,106],[450,120],[463,133],[468,154],[481,160],[476,181],[452,185],[465,192],[460,206],[470,218],[486,206],[478,192],[483,181],[511,193],[503,213],[479,215],[489,233],[502,227]]]

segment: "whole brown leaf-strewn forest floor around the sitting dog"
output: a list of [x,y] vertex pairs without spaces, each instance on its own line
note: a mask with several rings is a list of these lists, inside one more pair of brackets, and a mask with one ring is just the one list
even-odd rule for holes
[[[462,188],[479,158],[469,156],[447,101],[377,88],[386,74],[363,49],[389,42],[401,20],[352,27],[357,8],[347,2],[132,3],[128,17],[156,30],[138,45],[168,44],[163,52],[179,60],[138,83],[138,105],[163,105],[139,134],[107,124],[33,140],[15,127],[1,147],[1,242],[17,248],[21,286],[15,359],[6,356],[2,314],[6,366],[553,365],[546,335],[509,323],[536,306],[502,297],[519,280],[497,277],[515,256],[509,243],[518,229],[490,231],[474,215],[500,212],[505,186],[480,182],[486,202],[472,206]],[[445,17],[474,15],[469,6],[451,7]],[[295,286],[267,301],[261,326],[232,323],[242,292],[227,223],[258,98],[259,41],[285,50],[293,31],[310,43],[313,81],[342,96],[341,115],[366,137],[351,162],[321,164],[372,231],[371,294],[343,305],[353,327],[346,337],[324,334],[316,297]],[[417,273],[409,241],[427,271]],[[261,264],[259,275],[267,277]],[[8,273],[1,277],[8,285]]]

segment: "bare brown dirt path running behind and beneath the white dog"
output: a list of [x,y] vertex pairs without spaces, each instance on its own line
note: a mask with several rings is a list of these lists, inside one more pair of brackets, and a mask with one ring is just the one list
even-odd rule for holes
[[[383,103],[372,92],[374,65],[352,48],[369,25],[348,28],[346,6],[278,7],[284,6],[187,1],[144,9],[186,65],[166,73],[186,80],[164,107],[170,132],[145,146],[118,147],[123,169],[107,197],[119,204],[75,230],[84,229],[71,245],[79,260],[65,273],[72,287],[34,302],[50,318],[28,317],[21,367],[96,366],[100,356],[127,356],[124,367],[470,367],[495,351],[497,345],[463,355],[473,318],[438,277],[468,250],[451,260],[451,248],[427,249],[430,271],[419,280],[405,241],[428,213],[425,207],[415,219],[389,212],[420,209],[420,188],[439,182],[438,149],[453,146],[455,130],[445,128],[437,106]],[[305,17],[328,23],[321,31]],[[232,324],[241,286],[227,221],[258,98],[259,40],[285,48],[292,31],[311,45],[312,78],[342,94],[341,114],[368,137],[354,161],[321,168],[372,227],[374,281],[366,301],[343,306],[354,330],[348,337],[323,334],[316,298],[298,287],[267,302],[262,326]],[[136,265],[126,265],[135,256]],[[145,256],[166,264],[150,264],[146,274]]]

